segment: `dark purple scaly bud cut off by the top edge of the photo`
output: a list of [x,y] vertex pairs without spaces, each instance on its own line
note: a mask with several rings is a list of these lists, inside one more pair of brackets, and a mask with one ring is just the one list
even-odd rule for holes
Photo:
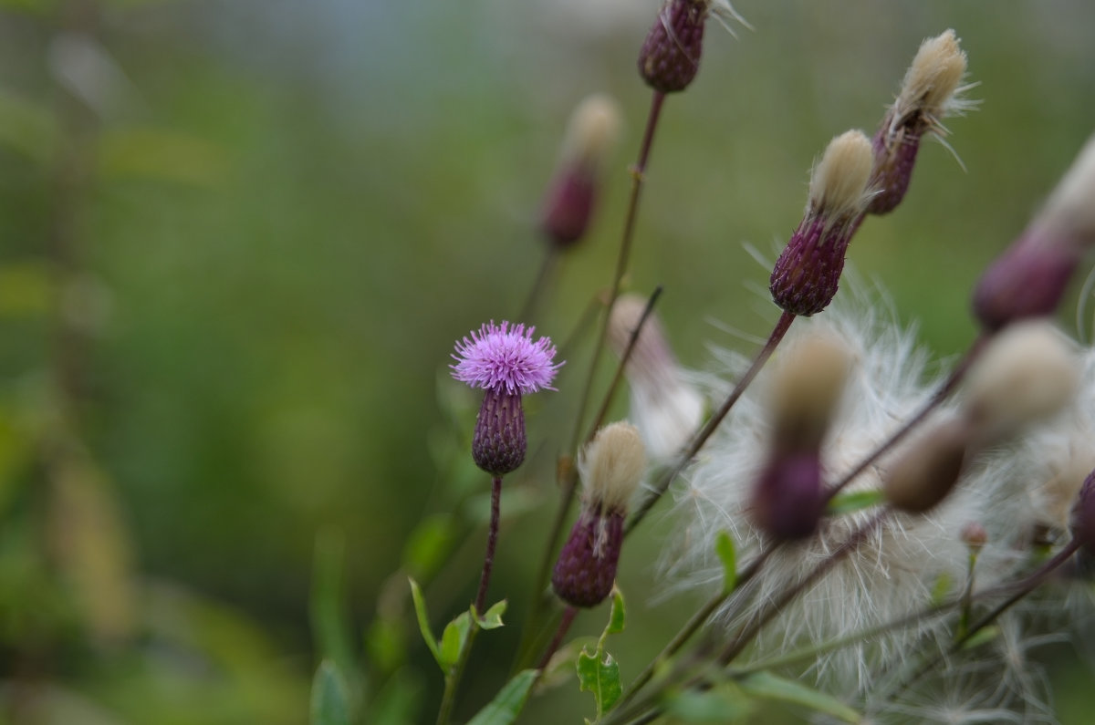
[[638,73],[659,93],[688,88],[700,70],[711,0],[669,0],[638,53]]

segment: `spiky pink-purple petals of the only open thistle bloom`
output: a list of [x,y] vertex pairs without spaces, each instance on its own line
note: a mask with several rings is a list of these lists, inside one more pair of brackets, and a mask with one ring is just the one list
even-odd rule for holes
[[555,346],[549,337],[533,342],[535,327],[523,324],[510,327],[508,322],[496,325],[492,320],[471,337],[457,342],[452,358],[452,377],[472,388],[532,393],[551,387],[563,362],[554,362]]

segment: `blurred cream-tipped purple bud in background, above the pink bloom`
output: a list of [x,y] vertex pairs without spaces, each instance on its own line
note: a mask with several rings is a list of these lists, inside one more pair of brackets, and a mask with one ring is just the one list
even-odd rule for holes
[[615,102],[602,94],[584,100],[570,116],[540,218],[541,230],[558,248],[581,239],[589,227],[604,166],[620,135],[620,117]]

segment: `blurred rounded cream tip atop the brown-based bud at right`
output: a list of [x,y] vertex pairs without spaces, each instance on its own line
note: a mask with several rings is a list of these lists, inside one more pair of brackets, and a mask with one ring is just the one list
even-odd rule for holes
[[1079,385],[1079,360],[1064,335],[1044,320],[1016,323],[971,367],[966,418],[981,437],[1011,435],[1059,411]]

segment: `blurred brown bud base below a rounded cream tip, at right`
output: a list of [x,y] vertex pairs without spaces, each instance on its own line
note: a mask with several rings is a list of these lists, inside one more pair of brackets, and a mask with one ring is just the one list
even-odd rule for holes
[[906,447],[883,476],[890,506],[925,514],[946,498],[961,474],[969,439],[968,424],[948,418]]

